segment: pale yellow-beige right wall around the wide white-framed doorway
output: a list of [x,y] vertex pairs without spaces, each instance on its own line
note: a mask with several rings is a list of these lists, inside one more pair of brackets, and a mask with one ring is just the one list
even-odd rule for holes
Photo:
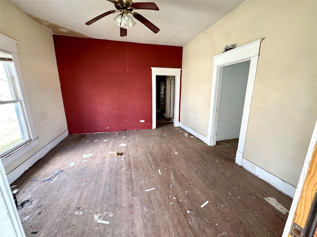
[[317,119],[317,1],[245,1],[186,44],[180,122],[207,135],[211,56],[260,38],[244,158],[296,187]]

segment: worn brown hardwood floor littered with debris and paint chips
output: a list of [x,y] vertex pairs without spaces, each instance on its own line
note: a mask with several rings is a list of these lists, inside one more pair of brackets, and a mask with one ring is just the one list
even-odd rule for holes
[[14,182],[18,202],[33,201],[18,211],[26,236],[280,237],[287,214],[264,197],[292,199],[234,163],[237,139],[209,147],[184,134],[68,136]]

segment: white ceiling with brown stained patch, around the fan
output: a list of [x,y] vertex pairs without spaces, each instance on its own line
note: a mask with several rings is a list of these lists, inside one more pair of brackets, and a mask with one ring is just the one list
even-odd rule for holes
[[115,9],[107,0],[9,0],[12,4],[58,35],[138,43],[184,46],[243,0],[135,0],[154,1],[159,11],[134,10],[159,27],[154,34],[141,22],[120,37],[120,28],[110,14],[90,26],[85,23]]

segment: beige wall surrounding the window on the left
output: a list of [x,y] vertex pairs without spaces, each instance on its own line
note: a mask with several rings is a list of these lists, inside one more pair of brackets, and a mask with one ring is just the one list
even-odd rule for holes
[[52,34],[6,0],[0,1],[0,32],[18,40],[25,90],[39,145],[5,166],[9,173],[67,130]]

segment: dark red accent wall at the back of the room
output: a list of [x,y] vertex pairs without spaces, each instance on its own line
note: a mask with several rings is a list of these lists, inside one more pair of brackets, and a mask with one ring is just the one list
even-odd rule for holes
[[151,67],[181,68],[182,47],[53,40],[69,134],[152,128]]

